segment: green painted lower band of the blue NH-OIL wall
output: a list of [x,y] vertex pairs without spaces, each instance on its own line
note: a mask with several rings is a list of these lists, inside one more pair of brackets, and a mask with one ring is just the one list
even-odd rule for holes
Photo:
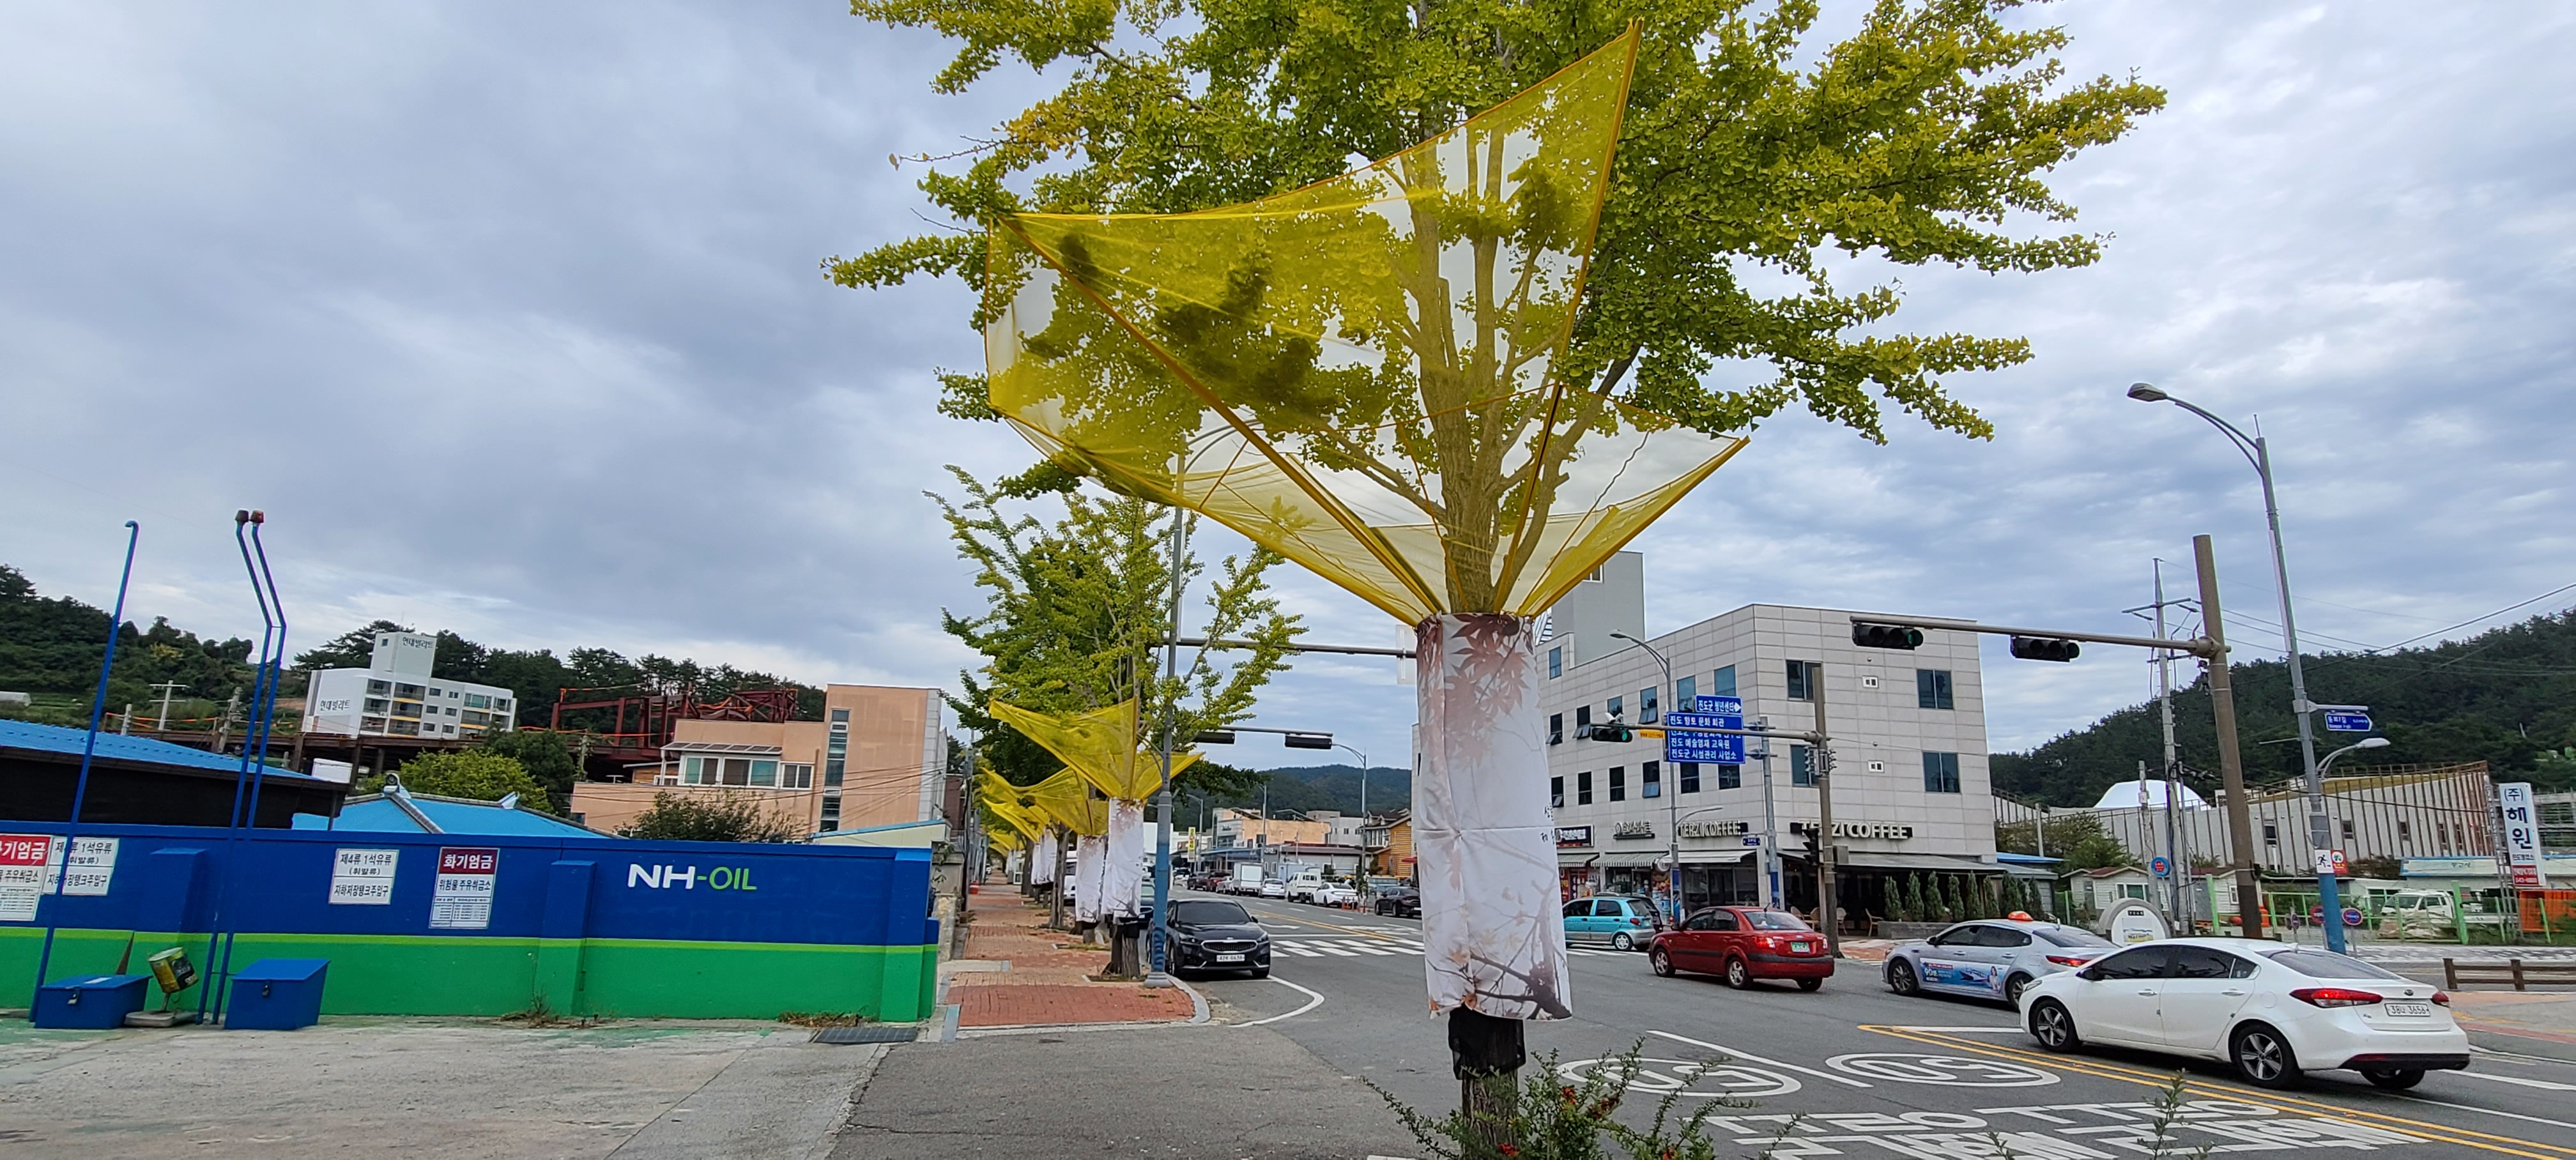
[[[108,974],[129,931],[62,931],[54,980]],[[0,928],[0,1005],[28,1005],[44,931]],[[139,933],[144,956],[183,946],[201,974],[206,936]],[[925,1018],[938,977],[930,946],[683,943],[657,938],[474,938],[245,933],[234,969],[258,959],[330,959],[332,1016],[507,1016],[544,1000],[564,1016],[775,1018],[783,1010]],[[157,990],[152,992],[157,995]],[[196,1005],[196,992],[183,995]]]

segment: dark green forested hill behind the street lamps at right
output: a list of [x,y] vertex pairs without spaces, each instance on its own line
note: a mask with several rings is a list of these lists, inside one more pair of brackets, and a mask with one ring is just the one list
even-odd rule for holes
[[[2177,675],[2190,665],[2177,662]],[[2308,657],[2308,696],[2318,704],[2367,704],[2385,750],[2370,766],[2483,760],[2506,781],[2576,789],[2576,611],[2535,616],[2465,642],[2388,655],[2326,652]],[[2290,714],[2290,668],[2267,660],[2233,665],[2236,727],[2246,781],[2298,776],[2298,722]],[[2321,724],[2321,722],[2318,722]],[[2182,763],[2218,784],[2218,732],[2205,681],[2174,693]],[[2030,753],[1994,755],[1994,789],[2048,804],[2094,804],[2102,789],[2161,766],[2156,704],[2120,709],[2087,730]],[[2324,745],[2354,735],[2318,735]],[[2344,766],[2339,766],[2344,768]]]

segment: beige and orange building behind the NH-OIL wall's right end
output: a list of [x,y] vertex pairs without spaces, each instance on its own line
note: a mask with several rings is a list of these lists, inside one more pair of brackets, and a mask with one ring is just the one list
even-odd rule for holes
[[824,686],[819,722],[677,722],[659,763],[572,786],[572,817],[618,830],[654,794],[752,794],[806,833],[943,820],[948,732],[938,688]]

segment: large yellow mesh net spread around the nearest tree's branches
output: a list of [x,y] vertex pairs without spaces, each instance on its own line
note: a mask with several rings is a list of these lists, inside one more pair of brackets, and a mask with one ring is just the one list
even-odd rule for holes
[[1005,219],[994,410],[1406,624],[1546,611],[1744,446],[1551,376],[1636,46],[1273,198]]

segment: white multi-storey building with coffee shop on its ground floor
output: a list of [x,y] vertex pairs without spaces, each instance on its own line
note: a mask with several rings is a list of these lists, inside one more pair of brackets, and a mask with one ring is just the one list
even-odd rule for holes
[[[1664,693],[1662,665],[1613,637],[1646,637],[1643,606],[1643,559],[1620,552],[1558,601],[1540,642],[1556,856],[1569,897],[1659,889],[1677,833],[1685,907],[1759,900],[1759,846],[1747,843],[1767,838],[1759,760],[1674,766],[1659,737],[1597,742],[1584,740],[1584,727],[1651,727],[1695,696],[1739,696],[1747,722],[1814,730],[1819,665],[1834,742],[1832,843],[1852,915],[1883,910],[1888,874],[2045,876],[1994,861],[1976,634],[1927,629],[1911,652],[1862,650],[1847,611],[1757,603],[1649,639],[1672,662]],[[1747,748],[1749,758],[1762,753],[1759,740]],[[1816,786],[1806,742],[1770,745],[1770,784],[1783,894],[1808,910]]]

